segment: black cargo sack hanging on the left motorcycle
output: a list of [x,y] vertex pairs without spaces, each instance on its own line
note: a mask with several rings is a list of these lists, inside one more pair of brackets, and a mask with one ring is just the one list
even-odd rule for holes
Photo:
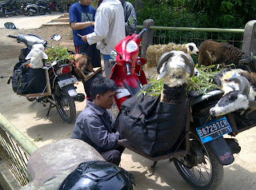
[[46,87],[46,74],[44,69],[32,69],[22,61],[14,66],[12,76],[14,93],[30,94],[42,93]]

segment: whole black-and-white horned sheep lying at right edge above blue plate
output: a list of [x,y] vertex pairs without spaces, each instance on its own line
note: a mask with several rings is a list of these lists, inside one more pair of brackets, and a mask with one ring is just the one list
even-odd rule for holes
[[213,108],[210,115],[214,117],[225,115],[242,109],[245,116],[256,109],[256,73],[242,69],[233,69],[222,74],[222,98]]

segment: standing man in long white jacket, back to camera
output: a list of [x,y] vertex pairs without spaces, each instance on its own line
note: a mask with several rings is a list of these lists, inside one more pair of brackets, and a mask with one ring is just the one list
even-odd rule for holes
[[110,77],[110,52],[126,37],[124,12],[119,0],[97,1],[101,3],[96,11],[94,33],[84,35],[82,40],[90,45],[97,43],[97,48],[103,54],[105,76]]

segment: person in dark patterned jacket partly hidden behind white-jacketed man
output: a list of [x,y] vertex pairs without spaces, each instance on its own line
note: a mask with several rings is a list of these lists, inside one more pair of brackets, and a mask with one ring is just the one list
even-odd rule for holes
[[124,10],[125,22],[126,22],[126,36],[137,32],[137,18],[136,11],[133,4],[126,2],[126,0],[120,0]]

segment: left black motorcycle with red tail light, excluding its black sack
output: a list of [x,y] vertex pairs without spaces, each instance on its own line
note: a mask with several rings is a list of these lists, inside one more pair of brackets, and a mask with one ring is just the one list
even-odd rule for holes
[[[6,22],[4,26],[6,29],[17,30],[12,22]],[[14,71],[18,69],[18,65],[19,69],[26,69],[29,67],[27,65],[26,56],[30,53],[32,46],[35,44],[42,44],[44,47],[47,47],[47,42],[49,41],[44,41],[34,34],[18,34],[17,36],[8,35],[7,37],[15,38],[18,43],[22,42],[26,45],[26,48],[23,48],[19,54],[19,62],[14,66]],[[60,35],[54,34],[50,39],[58,41],[60,38]],[[48,117],[50,109],[56,107],[58,114],[62,117],[63,121],[66,121],[67,123],[74,122],[76,117],[74,101],[84,101],[85,95],[83,93],[77,93],[74,87],[74,83],[77,82],[78,79],[73,77],[71,73],[73,68],[74,66],[69,60],[58,60],[50,63],[45,62],[42,67],[42,72],[46,78],[46,85],[43,85],[43,89],[40,91],[42,93],[21,93],[20,95],[25,96],[28,101],[38,101],[44,106],[46,106],[46,103],[50,103],[46,117]],[[39,71],[39,69],[34,70]],[[22,81],[22,78],[19,77],[18,80]],[[38,83],[35,84],[36,86],[40,85],[40,82],[36,82]],[[12,83],[14,89],[14,78],[12,79]]]

